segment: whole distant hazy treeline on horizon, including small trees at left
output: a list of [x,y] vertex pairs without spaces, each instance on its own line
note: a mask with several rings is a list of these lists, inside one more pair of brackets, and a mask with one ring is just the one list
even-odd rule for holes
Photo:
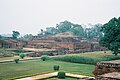
[[[103,33],[101,32],[102,24],[95,25],[79,25],[74,24],[69,21],[63,21],[59,24],[56,24],[54,27],[47,27],[46,30],[41,29],[41,31],[37,34],[38,36],[52,36],[59,33],[64,32],[73,32],[77,36],[85,37],[85,38],[101,38],[103,37]],[[15,39],[26,40],[29,39],[33,34],[25,34],[22,37],[19,37],[20,32],[13,31],[12,37]],[[5,36],[0,35],[0,38]]]

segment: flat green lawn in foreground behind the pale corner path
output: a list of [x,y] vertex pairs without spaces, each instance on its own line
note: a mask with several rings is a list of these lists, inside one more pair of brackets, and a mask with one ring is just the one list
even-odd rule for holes
[[94,65],[69,63],[54,60],[33,60],[20,61],[18,64],[14,62],[1,63],[0,77],[15,78],[20,76],[54,72],[54,65],[59,65],[60,71],[93,76],[92,71],[94,70]]

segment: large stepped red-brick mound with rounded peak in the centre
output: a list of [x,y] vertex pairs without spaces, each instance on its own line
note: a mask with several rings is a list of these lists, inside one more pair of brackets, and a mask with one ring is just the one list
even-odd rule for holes
[[28,40],[27,47],[63,49],[69,52],[105,50],[99,46],[99,39],[86,39],[75,36],[71,32],[60,33],[55,36],[33,36]]

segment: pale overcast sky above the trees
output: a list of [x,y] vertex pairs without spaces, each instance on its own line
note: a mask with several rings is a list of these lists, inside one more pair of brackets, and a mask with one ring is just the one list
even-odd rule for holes
[[0,0],[0,34],[37,34],[65,20],[104,24],[119,16],[120,0]]

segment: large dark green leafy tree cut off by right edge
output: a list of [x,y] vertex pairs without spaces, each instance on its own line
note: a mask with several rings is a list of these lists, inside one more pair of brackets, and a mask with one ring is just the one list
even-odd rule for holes
[[120,49],[120,17],[112,18],[108,23],[102,27],[104,37],[100,40],[100,45],[108,48],[115,55],[118,54]]

